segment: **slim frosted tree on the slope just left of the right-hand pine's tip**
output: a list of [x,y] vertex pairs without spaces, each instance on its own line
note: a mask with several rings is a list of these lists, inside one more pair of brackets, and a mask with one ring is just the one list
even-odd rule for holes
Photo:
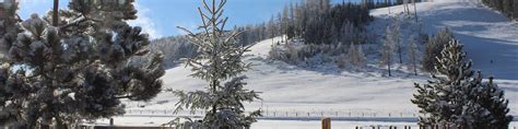
[[410,36],[408,52],[409,56],[409,70],[412,70],[417,75],[417,62],[420,57],[420,50],[417,46],[417,37],[415,35]]

